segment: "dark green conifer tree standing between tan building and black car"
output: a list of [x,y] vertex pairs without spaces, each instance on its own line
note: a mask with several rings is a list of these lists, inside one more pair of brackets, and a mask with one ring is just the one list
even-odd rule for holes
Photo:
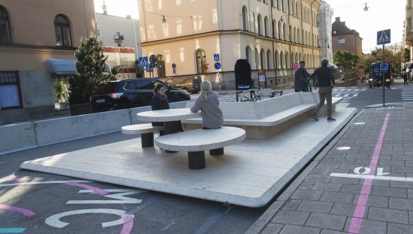
[[105,81],[114,78],[107,72],[105,61],[107,56],[103,55],[103,43],[96,36],[89,39],[82,38],[81,45],[74,53],[76,56],[76,74],[69,78],[69,103],[70,114],[90,113],[90,96]]

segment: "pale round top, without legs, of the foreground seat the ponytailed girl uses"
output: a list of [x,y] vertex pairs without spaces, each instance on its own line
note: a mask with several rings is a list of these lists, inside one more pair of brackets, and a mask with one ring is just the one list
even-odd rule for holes
[[245,139],[245,130],[238,127],[195,129],[156,138],[155,145],[172,151],[205,151],[233,145]]

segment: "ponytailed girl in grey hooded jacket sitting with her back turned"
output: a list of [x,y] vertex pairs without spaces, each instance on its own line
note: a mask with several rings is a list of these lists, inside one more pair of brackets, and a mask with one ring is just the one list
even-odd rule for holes
[[191,107],[193,113],[201,110],[202,123],[204,124],[202,129],[218,129],[224,124],[218,94],[211,90],[211,86],[209,81],[202,81],[200,96]]

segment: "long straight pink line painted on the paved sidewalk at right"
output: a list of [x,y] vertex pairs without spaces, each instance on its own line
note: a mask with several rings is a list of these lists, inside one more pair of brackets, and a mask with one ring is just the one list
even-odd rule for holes
[[[385,135],[385,129],[387,128],[389,122],[390,114],[385,115],[383,126],[381,127],[380,136],[377,140],[376,147],[374,148],[374,153],[372,160],[370,160],[370,175],[376,174],[377,163],[379,162],[381,147],[383,146],[383,140]],[[372,179],[366,179],[363,182],[363,187],[361,188],[359,200],[357,200],[356,209],[352,216],[350,228],[348,233],[359,234],[361,229],[361,224],[363,223],[364,211],[366,211],[366,205],[368,202],[368,196],[370,195],[370,190],[372,188]]]

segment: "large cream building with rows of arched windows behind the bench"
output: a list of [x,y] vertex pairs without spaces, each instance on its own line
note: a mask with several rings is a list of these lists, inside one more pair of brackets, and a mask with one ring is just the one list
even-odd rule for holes
[[[319,0],[138,0],[142,56],[157,56],[155,77],[198,75],[215,88],[220,81],[224,89],[234,89],[235,62],[244,58],[253,78],[263,69],[268,85],[288,83],[293,63],[306,61],[310,71],[319,65],[320,5]],[[214,54],[220,56],[219,70]]]

